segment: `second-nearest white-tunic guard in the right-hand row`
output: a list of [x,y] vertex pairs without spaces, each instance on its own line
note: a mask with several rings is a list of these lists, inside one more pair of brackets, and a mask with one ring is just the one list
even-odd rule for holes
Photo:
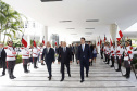
[[117,66],[119,66],[119,68],[116,69],[116,72],[121,72],[123,52],[124,52],[124,49],[121,46],[121,42],[117,41],[116,60],[117,60]]

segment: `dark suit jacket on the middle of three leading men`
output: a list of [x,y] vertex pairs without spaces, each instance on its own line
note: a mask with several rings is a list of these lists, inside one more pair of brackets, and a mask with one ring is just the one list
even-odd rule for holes
[[60,55],[61,55],[61,63],[70,64],[70,61],[72,61],[72,52],[71,49],[67,47],[65,52],[63,51],[63,48],[61,48]]

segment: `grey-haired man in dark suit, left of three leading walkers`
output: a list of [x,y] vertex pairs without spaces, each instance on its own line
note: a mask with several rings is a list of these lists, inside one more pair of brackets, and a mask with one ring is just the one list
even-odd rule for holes
[[49,80],[51,80],[51,77],[52,77],[52,69],[51,69],[51,65],[52,63],[54,63],[54,50],[52,48],[50,48],[50,42],[48,41],[47,42],[47,48],[43,49],[42,51],[42,57],[41,60],[43,61],[43,57],[45,57],[45,62],[47,64],[47,68],[48,68],[48,72],[49,72]]

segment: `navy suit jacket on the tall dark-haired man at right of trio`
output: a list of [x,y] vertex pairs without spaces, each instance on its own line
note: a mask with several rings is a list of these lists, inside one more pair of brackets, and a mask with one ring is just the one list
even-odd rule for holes
[[89,62],[89,58],[91,58],[91,50],[88,44],[85,44],[85,49],[83,51],[82,44],[78,47],[78,60]]

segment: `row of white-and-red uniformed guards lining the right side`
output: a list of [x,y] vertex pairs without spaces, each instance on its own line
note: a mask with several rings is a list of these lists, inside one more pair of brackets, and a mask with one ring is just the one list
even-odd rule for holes
[[133,47],[130,46],[129,41],[125,41],[124,44],[122,44],[122,41],[116,41],[114,43],[105,42],[104,46],[100,46],[100,54],[101,58],[103,58],[104,54],[104,62],[105,64],[110,64],[111,60],[111,66],[115,68],[115,61],[117,63],[117,69],[116,72],[122,72],[122,63],[124,62],[124,67],[126,68],[126,74],[123,75],[126,78],[130,77],[130,67],[133,62]]

